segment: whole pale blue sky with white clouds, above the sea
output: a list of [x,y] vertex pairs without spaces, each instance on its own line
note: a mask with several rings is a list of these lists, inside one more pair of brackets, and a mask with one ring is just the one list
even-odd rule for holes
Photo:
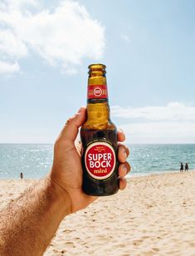
[[54,143],[107,66],[126,143],[195,143],[193,0],[2,0],[0,143]]

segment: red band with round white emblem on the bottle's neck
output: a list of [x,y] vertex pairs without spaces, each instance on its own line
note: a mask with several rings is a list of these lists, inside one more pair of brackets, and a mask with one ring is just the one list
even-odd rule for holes
[[106,85],[88,86],[88,99],[107,99],[108,91]]

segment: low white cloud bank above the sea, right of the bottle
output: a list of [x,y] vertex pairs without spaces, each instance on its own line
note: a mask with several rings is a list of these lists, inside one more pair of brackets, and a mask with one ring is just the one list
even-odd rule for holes
[[112,116],[128,122],[120,127],[129,143],[195,143],[195,106],[113,106]]

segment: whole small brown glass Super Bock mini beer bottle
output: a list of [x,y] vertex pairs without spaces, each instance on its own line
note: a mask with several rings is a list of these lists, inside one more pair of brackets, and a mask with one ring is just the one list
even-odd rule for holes
[[110,195],[119,190],[117,130],[110,121],[105,65],[89,66],[87,119],[80,129],[83,191]]

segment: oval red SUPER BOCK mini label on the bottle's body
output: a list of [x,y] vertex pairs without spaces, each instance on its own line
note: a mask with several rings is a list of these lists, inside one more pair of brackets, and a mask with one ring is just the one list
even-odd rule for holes
[[85,151],[85,167],[88,174],[96,180],[110,177],[115,170],[115,150],[106,142],[95,142]]

